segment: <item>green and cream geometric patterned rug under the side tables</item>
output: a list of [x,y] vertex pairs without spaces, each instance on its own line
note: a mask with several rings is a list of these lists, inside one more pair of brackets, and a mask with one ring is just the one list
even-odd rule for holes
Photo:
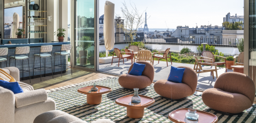
[[[97,85],[112,88],[112,92],[102,95],[102,103],[99,105],[89,105],[86,102],[86,94],[77,92],[81,87]],[[126,107],[115,104],[115,99],[129,94],[134,94],[133,90],[124,89],[119,85],[118,77],[106,77],[93,81],[73,84],[71,86],[58,87],[47,91],[48,97],[55,100],[56,110],[67,112],[83,121],[93,122],[97,119],[110,119],[114,122],[171,122],[168,114],[179,108],[193,108],[200,111],[210,112],[218,117],[219,122],[256,122],[256,106],[250,107],[243,114],[237,116],[227,116],[208,109],[201,99],[201,93],[195,92],[183,101],[171,101],[159,96],[154,91],[154,84],[139,91],[139,94],[155,99],[155,103],[145,108],[142,119],[132,119],[126,116]]]

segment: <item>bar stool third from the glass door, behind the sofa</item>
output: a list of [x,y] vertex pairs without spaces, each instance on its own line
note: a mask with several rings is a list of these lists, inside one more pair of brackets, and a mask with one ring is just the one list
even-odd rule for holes
[[[9,57],[9,66],[11,66],[11,59],[15,59],[15,67],[16,67],[16,60],[22,60],[22,70],[19,70],[19,71],[23,72],[23,74],[22,74],[23,79],[24,79],[24,71],[25,71],[24,68],[23,68],[24,59],[29,58],[28,56],[25,56],[24,54],[28,54],[28,56],[29,56],[29,47],[16,47],[14,56]],[[28,59],[28,71],[25,71],[25,72],[29,73],[29,81],[31,83],[30,69],[29,69],[29,59]]]

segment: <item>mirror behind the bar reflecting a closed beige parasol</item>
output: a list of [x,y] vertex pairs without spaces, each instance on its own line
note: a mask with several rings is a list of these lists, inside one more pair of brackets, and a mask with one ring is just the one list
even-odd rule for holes
[[4,38],[26,38],[26,0],[4,0]]

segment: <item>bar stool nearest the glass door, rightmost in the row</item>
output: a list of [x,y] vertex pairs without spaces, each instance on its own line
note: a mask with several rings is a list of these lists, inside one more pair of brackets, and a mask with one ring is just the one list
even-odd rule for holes
[[[61,56],[67,56],[70,55],[70,52],[66,52],[69,51],[71,49],[71,44],[62,44],[61,45],[61,49],[60,52],[55,52],[55,57],[54,57],[54,64],[55,64],[55,59],[56,59],[56,55],[60,55],[60,64],[56,64],[55,66],[60,67],[60,71],[61,71],[61,77],[62,77],[62,62],[61,62]],[[65,66],[70,66],[71,68],[71,75],[72,75],[72,66],[71,66],[71,55],[70,55],[70,65],[68,64],[64,64]],[[54,66],[54,71],[55,71],[55,66]]]

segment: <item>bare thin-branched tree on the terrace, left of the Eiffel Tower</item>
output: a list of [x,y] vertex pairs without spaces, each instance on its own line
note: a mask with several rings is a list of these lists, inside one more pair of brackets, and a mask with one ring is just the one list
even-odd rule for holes
[[125,36],[130,37],[130,42],[133,41],[134,37],[136,37],[137,29],[145,22],[144,12],[139,12],[136,5],[132,5],[132,9],[128,9],[126,2],[122,2],[124,7],[121,7],[122,14],[124,16],[124,24],[117,24],[118,27],[121,27]]

